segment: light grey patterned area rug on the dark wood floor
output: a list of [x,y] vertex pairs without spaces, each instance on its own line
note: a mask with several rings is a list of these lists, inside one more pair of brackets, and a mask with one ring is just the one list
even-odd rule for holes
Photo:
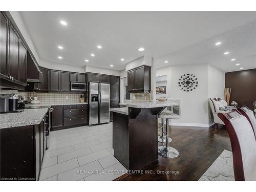
[[199,181],[234,181],[232,152],[224,150]]

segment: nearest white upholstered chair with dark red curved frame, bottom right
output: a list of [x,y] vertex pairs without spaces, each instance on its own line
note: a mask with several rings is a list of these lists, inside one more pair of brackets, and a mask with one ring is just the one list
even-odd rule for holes
[[256,140],[251,124],[238,110],[218,113],[225,123],[233,155],[234,179],[256,181]]

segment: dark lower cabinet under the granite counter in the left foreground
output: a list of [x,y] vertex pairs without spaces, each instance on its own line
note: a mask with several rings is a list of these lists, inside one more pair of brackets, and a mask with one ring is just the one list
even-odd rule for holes
[[[46,117],[44,118],[46,120]],[[1,181],[36,181],[39,179],[46,121],[40,124],[0,130]]]

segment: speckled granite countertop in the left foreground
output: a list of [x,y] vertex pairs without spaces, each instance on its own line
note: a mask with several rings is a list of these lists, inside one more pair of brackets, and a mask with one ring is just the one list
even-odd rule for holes
[[0,114],[0,129],[40,124],[48,110],[48,108],[25,109],[23,112],[20,113]]

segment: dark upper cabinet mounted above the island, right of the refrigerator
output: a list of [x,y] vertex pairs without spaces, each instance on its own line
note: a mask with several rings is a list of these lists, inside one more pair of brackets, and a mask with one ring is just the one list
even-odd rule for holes
[[151,91],[151,67],[141,66],[127,72],[129,93]]

